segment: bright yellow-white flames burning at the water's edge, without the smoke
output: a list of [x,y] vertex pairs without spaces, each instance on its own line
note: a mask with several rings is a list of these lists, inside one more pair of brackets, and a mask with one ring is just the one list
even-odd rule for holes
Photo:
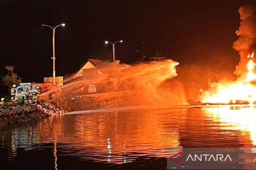
[[211,83],[210,90],[202,94],[203,103],[221,103],[221,104],[234,104],[234,103],[253,103],[256,101],[256,87],[254,81],[256,74],[254,68],[256,66],[253,61],[254,52],[248,54],[249,58],[247,63],[246,77],[239,78],[234,82]]

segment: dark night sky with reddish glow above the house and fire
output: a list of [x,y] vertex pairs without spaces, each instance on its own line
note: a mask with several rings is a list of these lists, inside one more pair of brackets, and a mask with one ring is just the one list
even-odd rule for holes
[[[75,72],[88,58],[112,57],[123,63],[140,60],[142,51],[157,51],[182,63],[214,55],[239,58],[232,49],[239,26],[238,9],[255,1],[179,0],[1,0],[0,75],[15,66],[23,82],[42,82],[52,75],[55,33],[56,76]],[[144,42],[144,43],[143,43]],[[139,50],[139,52],[136,52]]]

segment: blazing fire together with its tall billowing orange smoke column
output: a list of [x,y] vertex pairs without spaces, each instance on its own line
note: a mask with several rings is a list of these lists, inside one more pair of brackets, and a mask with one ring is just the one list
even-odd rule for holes
[[[202,90],[201,103],[211,104],[249,104],[256,101],[256,11],[254,6],[242,6],[239,9],[239,36],[233,48],[239,52],[240,62],[234,74],[236,81],[221,80],[210,83],[209,90]],[[192,104],[193,102],[190,101]]]

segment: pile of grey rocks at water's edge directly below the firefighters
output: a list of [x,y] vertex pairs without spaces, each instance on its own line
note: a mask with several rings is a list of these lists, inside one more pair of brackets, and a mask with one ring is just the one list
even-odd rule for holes
[[32,119],[43,119],[61,113],[59,108],[49,103],[2,106],[0,108],[0,126],[15,122],[27,122]]

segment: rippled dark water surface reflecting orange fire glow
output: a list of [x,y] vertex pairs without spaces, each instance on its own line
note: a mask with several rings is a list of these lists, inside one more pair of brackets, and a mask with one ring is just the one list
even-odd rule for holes
[[254,107],[119,107],[0,130],[3,169],[165,169],[169,147],[255,147]]

